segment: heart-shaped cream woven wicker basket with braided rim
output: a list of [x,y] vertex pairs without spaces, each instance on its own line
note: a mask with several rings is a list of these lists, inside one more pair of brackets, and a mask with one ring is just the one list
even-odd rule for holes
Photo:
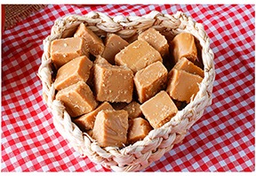
[[[50,44],[55,39],[74,34],[76,27],[82,22],[99,36],[115,33],[123,38],[130,38],[149,27],[155,27],[160,32],[172,35],[181,32],[193,34],[202,47],[204,63],[204,80],[200,83],[200,90],[194,100],[188,103],[182,111],[178,111],[175,117],[164,126],[152,130],[143,141],[135,142],[123,149],[100,148],[90,135],[83,133],[71,121],[63,104],[54,99]],[[174,144],[181,142],[190,126],[202,117],[205,107],[212,103],[212,84],[215,72],[210,39],[205,34],[204,27],[183,12],[178,11],[170,15],[151,11],[141,17],[116,16],[112,18],[92,11],[84,16],[70,15],[55,21],[51,35],[44,40],[44,54],[38,76],[43,83],[44,101],[52,110],[54,126],[76,151],[83,157],[87,156],[93,162],[114,171],[140,171],[163,157],[164,153],[171,150]]]

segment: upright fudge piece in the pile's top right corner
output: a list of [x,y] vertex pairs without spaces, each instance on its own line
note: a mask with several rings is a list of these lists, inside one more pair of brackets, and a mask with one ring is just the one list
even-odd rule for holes
[[177,34],[173,38],[171,45],[175,63],[177,63],[181,57],[187,57],[191,62],[195,62],[197,58],[197,50],[193,34]]

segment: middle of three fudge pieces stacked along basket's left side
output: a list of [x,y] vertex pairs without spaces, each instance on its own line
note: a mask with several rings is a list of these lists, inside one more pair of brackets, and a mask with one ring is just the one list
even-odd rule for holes
[[62,65],[57,72],[54,88],[60,90],[67,88],[78,81],[89,78],[92,61],[88,57],[76,57],[67,64]]

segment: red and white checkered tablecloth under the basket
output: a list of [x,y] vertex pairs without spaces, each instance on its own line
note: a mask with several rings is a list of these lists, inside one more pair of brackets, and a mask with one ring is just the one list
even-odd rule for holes
[[2,172],[109,172],[80,157],[56,131],[36,76],[53,21],[71,13],[185,11],[211,38],[212,105],[180,145],[147,172],[255,172],[255,5],[48,5],[2,34]]

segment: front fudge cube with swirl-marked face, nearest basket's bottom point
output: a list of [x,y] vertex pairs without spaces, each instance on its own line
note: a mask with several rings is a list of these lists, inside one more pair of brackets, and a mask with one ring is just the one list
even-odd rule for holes
[[92,138],[100,147],[123,147],[127,141],[128,112],[100,111],[92,129]]

